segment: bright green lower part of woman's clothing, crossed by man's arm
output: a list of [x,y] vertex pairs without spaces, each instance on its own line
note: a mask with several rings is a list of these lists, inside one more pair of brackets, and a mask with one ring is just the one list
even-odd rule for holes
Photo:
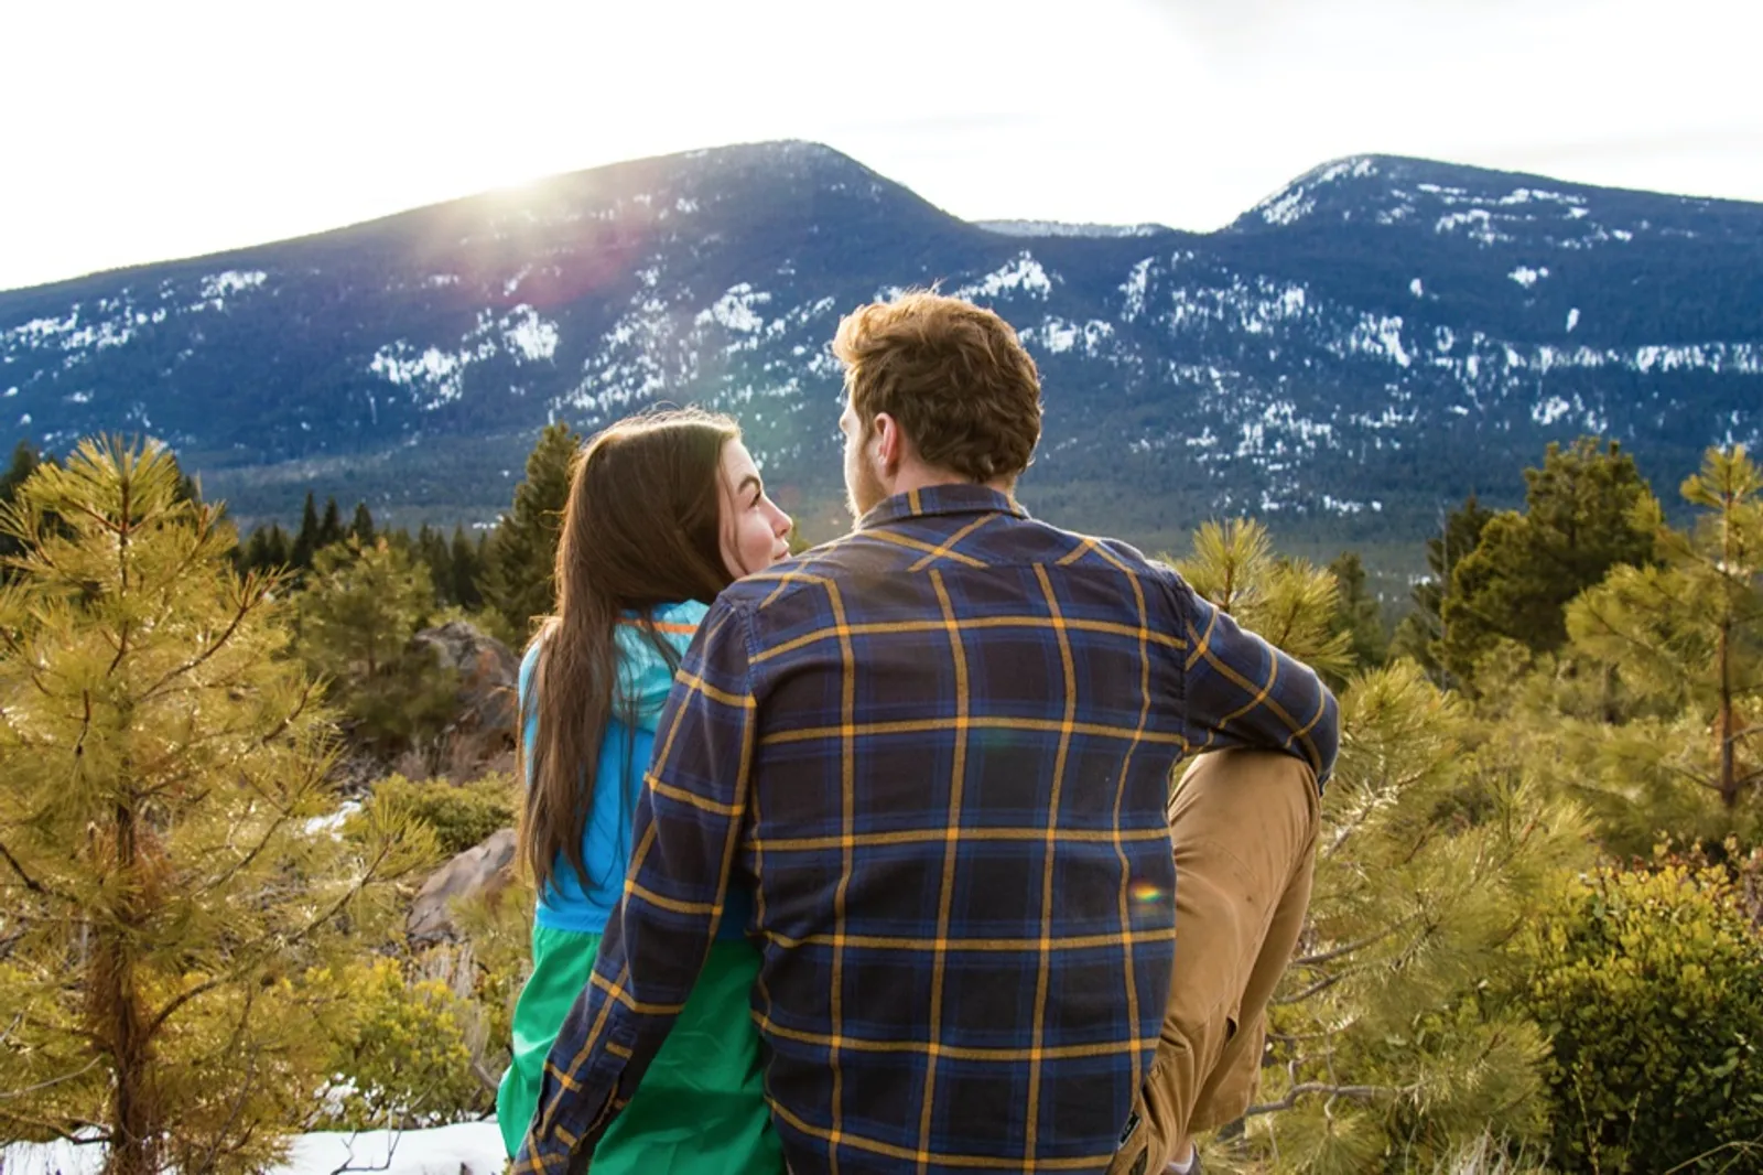
[[[515,1004],[515,1048],[495,1094],[502,1145],[513,1156],[538,1108],[539,1078],[569,1006],[587,984],[599,935],[532,928],[532,977]],[[594,1175],[779,1175],[749,1016],[760,953],[716,942],[631,1104],[594,1149]]]

